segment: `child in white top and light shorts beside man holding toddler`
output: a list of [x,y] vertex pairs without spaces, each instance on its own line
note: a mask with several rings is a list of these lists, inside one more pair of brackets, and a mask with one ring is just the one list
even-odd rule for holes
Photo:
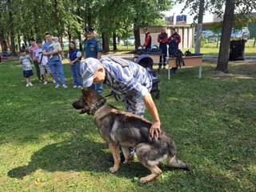
[[[53,80],[54,80],[54,76],[51,73],[50,67],[48,65],[47,56],[42,55],[42,41],[40,39],[38,39],[36,41],[36,43],[38,45],[38,49],[35,52],[35,57],[38,59],[38,63],[40,65],[40,72],[42,74],[43,84],[46,85],[47,84],[46,71],[50,74],[50,76],[51,76],[51,78],[53,78]],[[55,81],[54,81],[54,83],[55,83]]]

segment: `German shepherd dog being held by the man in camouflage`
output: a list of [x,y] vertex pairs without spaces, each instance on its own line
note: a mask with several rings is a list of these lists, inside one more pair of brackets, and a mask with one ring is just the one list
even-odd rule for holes
[[106,99],[94,90],[82,89],[82,97],[73,103],[80,114],[92,114],[99,134],[108,142],[114,157],[111,173],[118,171],[120,166],[119,146],[125,157],[124,163],[130,163],[129,147],[135,147],[138,161],[151,171],[151,174],[140,178],[141,183],[151,182],[162,174],[158,165],[166,159],[167,165],[183,170],[188,166],[176,157],[176,147],[166,132],[162,130],[159,138],[150,137],[151,122],[137,115],[123,112],[114,106],[106,105]]

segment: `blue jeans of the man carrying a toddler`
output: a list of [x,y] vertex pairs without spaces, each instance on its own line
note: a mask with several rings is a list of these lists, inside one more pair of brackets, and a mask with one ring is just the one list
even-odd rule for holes
[[[50,66],[50,70],[54,75],[54,81],[56,82],[56,84],[59,84],[59,82],[58,82],[58,75],[59,75],[62,85],[64,85],[65,84],[65,75],[64,75],[62,62],[59,60],[53,61],[53,62],[50,61],[50,62],[48,62],[48,65]],[[57,74],[57,72],[58,72],[58,74]]]

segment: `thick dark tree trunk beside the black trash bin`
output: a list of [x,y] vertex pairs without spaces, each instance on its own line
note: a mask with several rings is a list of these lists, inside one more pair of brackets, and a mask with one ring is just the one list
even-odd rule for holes
[[232,22],[234,19],[234,0],[226,0],[226,8],[222,25],[221,44],[219,46],[218,64],[216,70],[222,70],[228,73],[227,67],[229,62],[230,50],[230,34],[232,30]]

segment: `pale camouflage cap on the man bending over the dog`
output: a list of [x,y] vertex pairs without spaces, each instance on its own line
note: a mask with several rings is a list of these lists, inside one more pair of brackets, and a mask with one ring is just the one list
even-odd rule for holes
[[94,74],[101,62],[97,58],[86,58],[80,64],[80,73],[83,78],[83,87],[89,87],[94,82]]

